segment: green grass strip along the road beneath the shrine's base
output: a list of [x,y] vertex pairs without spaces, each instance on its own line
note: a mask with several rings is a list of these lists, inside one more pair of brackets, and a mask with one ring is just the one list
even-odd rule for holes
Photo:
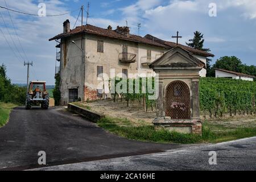
[[155,130],[154,126],[132,126],[128,119],[106,117],[97,122],[98,126],[121,137],[160,143],[218,143],[228,140],[253,137],[256,135],[256,128],[237,128],[228,130],[225,127],[218,127],[218,132],[212,131],[212,124],[205,122],[203,134],[181,134],[167,130]]

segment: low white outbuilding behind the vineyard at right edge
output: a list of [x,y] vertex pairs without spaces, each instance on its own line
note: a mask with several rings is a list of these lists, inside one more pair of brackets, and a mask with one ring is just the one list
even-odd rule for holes
[[253,81],[255,76],[252,75],[247,75],[244,73],[238,73],[238,72],[233,72],[233,71],[228,71],[225,69],[215,69],[215,77],[216,78],[232,78],[232,79],[237,79],[237,80],[247,80],[247,81]]

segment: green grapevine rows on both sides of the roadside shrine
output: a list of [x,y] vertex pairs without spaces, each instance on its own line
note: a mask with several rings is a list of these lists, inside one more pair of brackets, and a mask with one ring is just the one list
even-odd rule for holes
[[[110,80],[112,88],[120,86],[122,78]],[[129,82],[133,82],[133,88],[129,88]],[[146,81],[147,82],[147,81]],[[118,85],[119,84],[119,85]],[[147,82],[148,84],[148,82]],[[152,79],[154,89],[154,78]],[[136,86],[137,85],[137,86]],[[139,93],[135,93],[135,87]],[[155,100],[149,100],[148,85],[142,86],[142,78],[127,79],[127,86],[120,86],[123,93],[112,93],[114,102],[138,103],[143,105],[144,111],[155,109]],[[133,92],[130,92],[133,90]],[[143,92],[142,92],[143,91]],[[249,115],[256,114],[255,107],[256,82],[232,80],[229,78],[200,78],[200,109],[206,117],[222,117],[224,114]]]

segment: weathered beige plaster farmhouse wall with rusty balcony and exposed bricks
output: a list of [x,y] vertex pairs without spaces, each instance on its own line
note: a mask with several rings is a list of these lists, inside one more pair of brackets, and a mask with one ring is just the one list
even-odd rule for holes
[[[104,42],[104,52],[97,52],[97,41]],[[121,63],[119,54],[123,45],[128,46],[128,53],[138,55],[138,44],[124,40],[110,39],[101,36],[86,35],[85,39],[85,100],[97,99],[97,89],[102,89],[101,81],[97,80],[97,66],[103,66],[104,73],[110,76],[110,70],[115,70],[115,75],[122,74],[122,69],[127,69],[129,74],[137,73],[138,56],[135,63]],[[120,75],[121,77],[121,75]],[[129,76],[131,77],[131,76]],[[108,80],[108,78],[105,78]]]

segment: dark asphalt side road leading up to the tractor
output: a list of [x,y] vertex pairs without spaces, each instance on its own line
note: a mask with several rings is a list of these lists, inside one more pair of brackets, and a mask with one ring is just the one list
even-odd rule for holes
[[45,151],[47,164],[59,165],[97,159],[148,154],[170,150],[177,144],[157,144],[123,139],[107,133],[94,123],[65,111],[17,107],[10,121],[0,128],[0,169],[29,169]]

